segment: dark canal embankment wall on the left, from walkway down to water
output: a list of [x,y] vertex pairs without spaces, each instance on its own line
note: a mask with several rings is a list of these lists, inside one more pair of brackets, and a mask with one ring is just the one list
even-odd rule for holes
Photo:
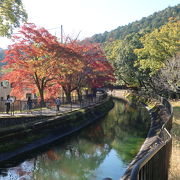
[[[112,99],[106,95],[101,101],[84,103],[81,107],[75,104],[71,106],[73,108],[61,107],[60,110],[64,111],[58,113],[55,109],[42,109],[39,112],[42,114],[23,112],[9,115],[9,118],[4,115],[0,118],[0,139],[3,141],[0,163],[79,131],[105,116],[113,105]],[[67,110],[72,113],[66,114]],[[51,116],[51,113],[57,114]]]

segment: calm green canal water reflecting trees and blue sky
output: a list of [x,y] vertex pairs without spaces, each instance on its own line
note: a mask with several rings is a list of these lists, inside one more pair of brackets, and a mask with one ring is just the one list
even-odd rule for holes
[[143,143],[148,121],[144,108],[115,100],[97,123],[0,168],[0,180],[118,180]]

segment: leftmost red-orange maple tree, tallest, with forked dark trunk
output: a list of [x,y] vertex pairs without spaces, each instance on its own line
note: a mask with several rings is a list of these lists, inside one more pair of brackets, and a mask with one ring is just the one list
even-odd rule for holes
[[38,93],[44,103],[44,92],[55,79],[54,59],[78,55],[34,24],[25,24],[13,40],[15,43],[6,51],[4,62],[8,72],[3,79],[13,85],[11,95],[20,98],[24,92],[31,91]]

